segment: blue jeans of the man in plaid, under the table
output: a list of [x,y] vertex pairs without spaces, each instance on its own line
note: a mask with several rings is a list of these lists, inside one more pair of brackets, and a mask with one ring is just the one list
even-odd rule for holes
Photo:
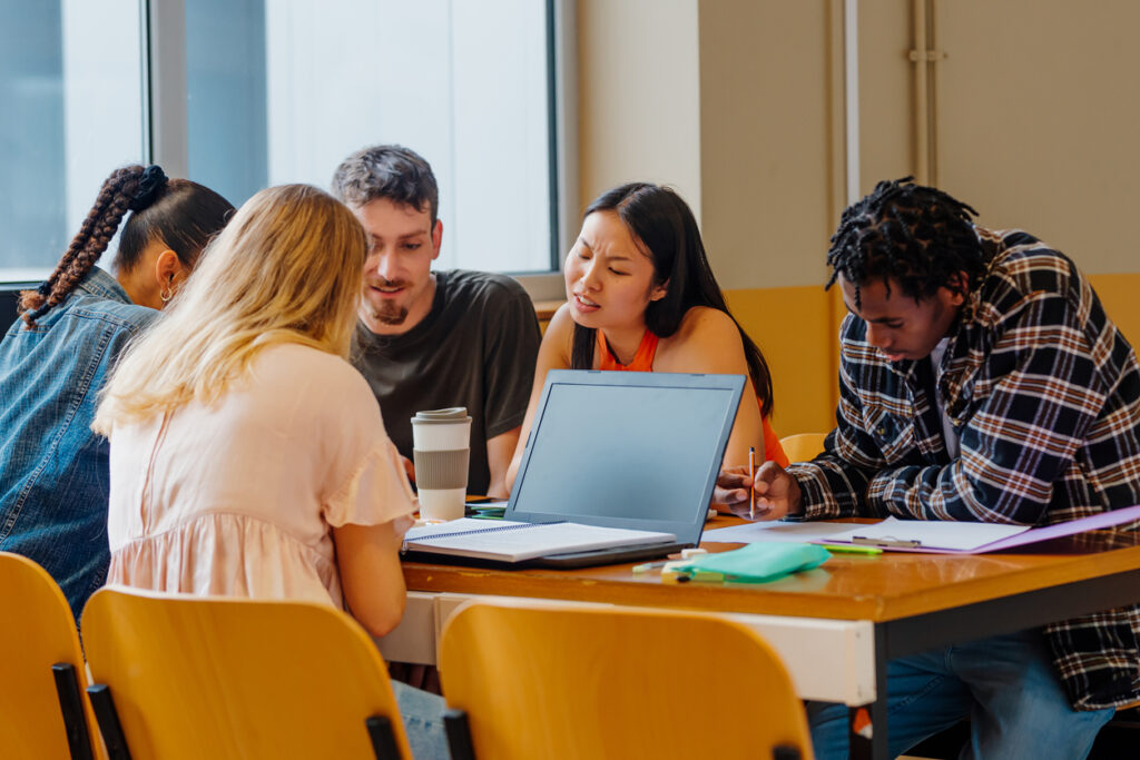
[[[1040,630],[933,649],[887,663],[890,757],[970,719],[961,758],[1084,758],[1113,710],[1069,706]],[[807,703],[817,760],[847,758],[847,706]]]

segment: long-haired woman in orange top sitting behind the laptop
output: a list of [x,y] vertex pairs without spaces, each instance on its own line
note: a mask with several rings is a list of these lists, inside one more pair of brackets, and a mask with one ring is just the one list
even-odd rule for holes
[[[568,302],[538,351],[530,407],[507,487],[514,483],[549,369],[747,375],[724,466],[788,458],[768,425],[772,378],[764,354],[728,312],[693,212],[669,188],[634,182],[586,209],[567,255]],[[755,399],[755,401],[754,401]]]

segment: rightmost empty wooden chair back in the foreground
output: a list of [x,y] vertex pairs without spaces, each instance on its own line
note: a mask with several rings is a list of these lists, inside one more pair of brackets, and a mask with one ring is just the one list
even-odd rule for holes
[[439,662],[453,760],[812,757],[779,657],[720,618],[472,603]]

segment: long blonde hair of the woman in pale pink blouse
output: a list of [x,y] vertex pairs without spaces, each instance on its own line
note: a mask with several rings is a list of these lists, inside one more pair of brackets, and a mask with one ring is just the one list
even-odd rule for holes
[[123,354],[92,430],[109,435],[116,424],[145,422],[192,400],[209,404],[277,343],[348,358],[365,250],[352,212],[323,190],[283,185],[258,193]]

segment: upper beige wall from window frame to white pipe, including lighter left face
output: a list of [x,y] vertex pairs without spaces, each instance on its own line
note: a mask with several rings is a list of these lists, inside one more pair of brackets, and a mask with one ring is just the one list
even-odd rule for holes
[[841,2],[579,0],[577,23],[581,205],[669,183],[723,287],[820,284],[844,202]]

